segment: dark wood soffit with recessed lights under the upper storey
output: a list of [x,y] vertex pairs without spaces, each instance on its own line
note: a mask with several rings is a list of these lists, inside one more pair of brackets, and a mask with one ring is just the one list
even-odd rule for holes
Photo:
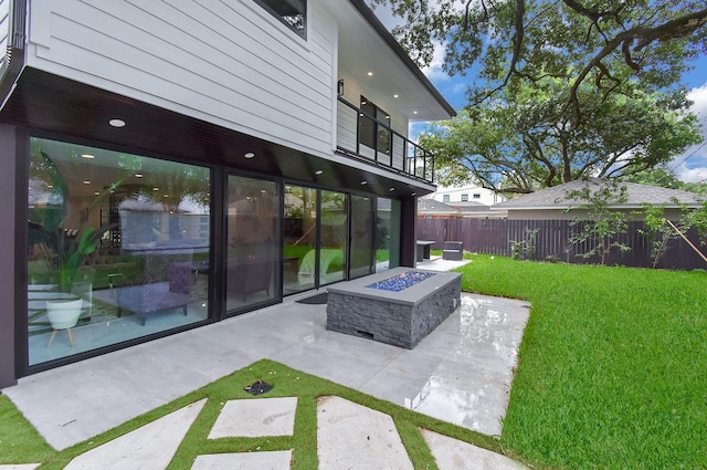
[[[127,125],[113,127],[113,118]],[[0,122],[123,152],[223,165],[325,188],[360,191],[367,180],[366,192],[378,196],[431,192],[424,182],[388,179],[31,67],[20,75]],[[255,157],[247,159],[246,153]]]

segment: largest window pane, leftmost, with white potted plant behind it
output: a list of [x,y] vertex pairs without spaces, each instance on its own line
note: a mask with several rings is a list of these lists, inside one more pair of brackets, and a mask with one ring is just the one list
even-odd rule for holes
[[30,140],[29,364],[208,317],[210,170]]

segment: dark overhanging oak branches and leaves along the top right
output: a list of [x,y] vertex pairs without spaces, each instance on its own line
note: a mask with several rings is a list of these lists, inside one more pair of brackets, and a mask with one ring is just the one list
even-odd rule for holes
[[421,65],[445,44],[444,70],[479,66],[472,105],[488,101],[514,79],[562,81],[573,126],[584,114],[582,93],[597,100],[631,96],[679,82],[690,60],[707,53],[703,0],[369,0],[389,3],[404,23],[393,33]]

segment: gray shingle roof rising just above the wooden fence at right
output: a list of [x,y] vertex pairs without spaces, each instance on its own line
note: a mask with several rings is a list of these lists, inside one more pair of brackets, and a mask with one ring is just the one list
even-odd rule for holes
[[[577,206],[584,201],[567,200],[568,191],[584,188],[600,188],[604,181],[600,178],[589,178],[588,180],[576,180],[563,185],[553,186],[540,191],[531,192],[518,198],[509,199],[493,206],[493,209],[513,209],[513,210],[536,210],[536,209],[564,209],[569,206]],[[657,186],[639,185],[636,182],[620,182],[627,189],[629,200],[623,205],[615,207],[640,208],[642,203],[664,205],[665,207],[676,207],[673,199],[677,199],[682,203],[696,206],[703,199],[699,195],[676,189],[658,188]]]

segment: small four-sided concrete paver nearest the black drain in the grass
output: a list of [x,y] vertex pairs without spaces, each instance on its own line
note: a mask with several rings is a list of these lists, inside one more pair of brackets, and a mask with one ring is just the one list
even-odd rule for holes
[[296,397],[230,400],[213,424],[209,439],[292,436],[296,411]]

